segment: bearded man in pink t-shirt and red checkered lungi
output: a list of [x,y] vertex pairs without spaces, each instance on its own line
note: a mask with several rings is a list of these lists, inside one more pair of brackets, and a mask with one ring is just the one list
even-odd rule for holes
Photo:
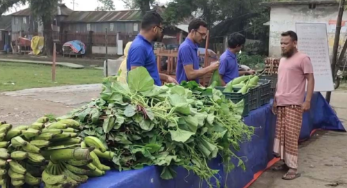
[[287,171],[282,178],[294,180],[301,176],[298,173],[298,139],[303,112],[310,110],[314,76],[310,58],[296,49],[298,42],[296,33],[293,31],[282,33],[280,42],[282,58],[278,68],[276,95],[273,100],[273,113],[277,115],[273,152],[285,164],[273,170]]

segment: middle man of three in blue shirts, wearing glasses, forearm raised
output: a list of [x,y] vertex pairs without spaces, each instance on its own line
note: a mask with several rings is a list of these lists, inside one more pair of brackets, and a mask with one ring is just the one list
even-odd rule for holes
[[219,62],[212,63],[209,67],[200,69],[200,60],[198,58],[198,44],[205,40],[208,33],[206,22],[201,19],[193,19],[188,26],[189,34],[185,42],[180,44],[178,49],[178,60],[176,69],[176,79],[178,83],[182,81],[195,80],[218,69]]

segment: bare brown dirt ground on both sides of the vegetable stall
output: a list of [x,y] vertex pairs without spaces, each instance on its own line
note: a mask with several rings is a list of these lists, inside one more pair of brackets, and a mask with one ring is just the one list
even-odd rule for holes
[[[13,125],[27,124],[44,114],[64,115],[99,96],[101,85],[78,85],[25,89],[0,94],[0,120]],[[332,94],[332,106],[343,123],[347,122],[347,91]],[[347,187],[347,134],[319,131],[301,144],[299,170],[302,177],[281,179],[284,173],[266,171],[251,188]]]

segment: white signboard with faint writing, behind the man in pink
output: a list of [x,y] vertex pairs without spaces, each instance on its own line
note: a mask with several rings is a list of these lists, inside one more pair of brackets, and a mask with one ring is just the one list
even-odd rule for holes
[[334,90],[326,24],[296,23],[298,51],[310,56],[314,69],[314,91]]

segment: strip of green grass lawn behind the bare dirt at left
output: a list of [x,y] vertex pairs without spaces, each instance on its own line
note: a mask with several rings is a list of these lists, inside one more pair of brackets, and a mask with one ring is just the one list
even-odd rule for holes
[[0,62],[0,92],[20,89],[101,83],[103,71],[56,67],[56,82],[52,82],[52,67],[18,62]]

